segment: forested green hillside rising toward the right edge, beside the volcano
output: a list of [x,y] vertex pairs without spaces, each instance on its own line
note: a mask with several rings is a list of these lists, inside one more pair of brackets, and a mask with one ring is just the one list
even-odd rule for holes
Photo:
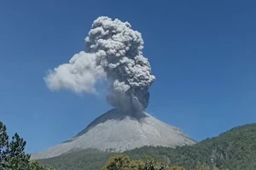
[[256,124],[232,128],[218,137],[205,139],[193,146],[143,147],[127,151],[133,158],[142,155],[166,156],[171,165],[192,168],[198,162],[212,167],[228,167],[230,170],[256,169]]

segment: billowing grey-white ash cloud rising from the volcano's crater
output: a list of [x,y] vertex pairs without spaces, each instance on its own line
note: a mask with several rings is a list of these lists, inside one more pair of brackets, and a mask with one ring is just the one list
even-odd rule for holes
[[108,17],[96,19],[85,38],[86,49],[69,63],[44,77],[48,88],[67,88],[76,94],[96,93],[96,82],[108,81],[108,103],[128,111],[148,106],[148,88],[154,82],[143,38],[128,22]]

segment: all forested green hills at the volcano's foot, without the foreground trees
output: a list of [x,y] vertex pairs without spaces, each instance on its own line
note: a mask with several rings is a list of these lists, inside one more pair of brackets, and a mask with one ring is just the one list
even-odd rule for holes
[[[80,150],[40,161],[59,170],[98,170],[113,154],[99,150]],[[131,156],[131,159],[143,156],[162,157],[172,166],[183,166],[187,169],[195,167],[197,163],[207,163],[211,167],[226,167],[230,170],[255,170],[256,124],[232,128],[218,137],[205,139],[192,146],[176,149],[145,146],[125,151],[125,154]]]

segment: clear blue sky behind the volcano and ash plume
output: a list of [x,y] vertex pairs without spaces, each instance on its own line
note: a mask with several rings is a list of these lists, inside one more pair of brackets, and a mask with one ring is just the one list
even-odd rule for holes
[[256,122],[255,1],[4,1],[0,120],[37,152],[70,139],[111,107],[104,96],[50,92],[45,71],[84,50],[107,15],[141,31],[157,80],[148,112],[200,141]]

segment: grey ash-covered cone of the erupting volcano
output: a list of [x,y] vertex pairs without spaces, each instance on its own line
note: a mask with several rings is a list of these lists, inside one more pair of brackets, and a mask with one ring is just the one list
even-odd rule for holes
[[160,122],[146,112],[131,115],[113,109],[97,117],[73,139],[32,154],[31,158],[44,159],[88,148],[119,152],[144,145],[176,147],[186,144],[195,144],[195,141],[179,128]]

